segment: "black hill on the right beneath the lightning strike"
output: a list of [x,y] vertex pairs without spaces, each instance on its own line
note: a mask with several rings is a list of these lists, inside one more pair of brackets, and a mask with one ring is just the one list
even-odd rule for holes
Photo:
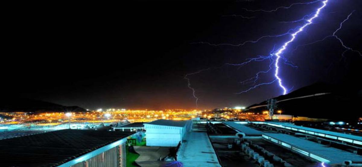
[[[297,98],[315,94],[319,95]],[[274,99],[279,101],[277,109],[282,110],[283,114],[354,121],[362,117],[362,89],[359,87],[316,83],[297,89],[287,95],[275,97]],[[259,104],[253,104],[247,107],[247,109],[252,112],[262,112],[267,110],[267,107],[263,106],[266,104],[267,101],[263,101]]]

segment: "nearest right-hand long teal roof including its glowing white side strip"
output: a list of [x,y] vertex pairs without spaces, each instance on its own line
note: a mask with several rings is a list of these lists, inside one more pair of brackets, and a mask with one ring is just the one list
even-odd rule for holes
[[321,162],[327,162],[329,164],[340,164],[345,160],[352,160],[355,162],[362,161],[362,156],[360,155],[321,145],[319,143],[287,134],[264,133],[263,137],[269,139],[272,142],[288,147],[289,149],[292,149],[300,154],[310,156],[313,159],[319,160]]

